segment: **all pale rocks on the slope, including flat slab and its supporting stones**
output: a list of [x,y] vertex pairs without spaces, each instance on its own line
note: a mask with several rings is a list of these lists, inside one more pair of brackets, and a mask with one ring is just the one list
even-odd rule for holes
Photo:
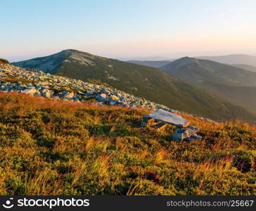
[[[164,105],[147,101],[145,98],[133,96],[123,91],[118,91],[104,85],[91,84],[77,79],[61,77],[44,73],[41,70],[19,68],[10,64],[0,65],[0,91],[28,94],[30,96],[42,96],[63,101],[76,101],[78,103],[95,101],[99,106],[124,106],[127,108],[147,108],[153,113],[145,115],[142,126],[147,126],[151,119],[160,121],[154,128],[159,129],[165,124],[173,124],[178,127],[173,140],[193,141],[202,137],[196,133],[196,127],[190,125],[180,115],[178,110],[173,110]],[[187,114],[188,115],[188,114]],[[196,116],[196,115],[193,115]],[[201,120],[214,122],[207,118],[198,117]]]

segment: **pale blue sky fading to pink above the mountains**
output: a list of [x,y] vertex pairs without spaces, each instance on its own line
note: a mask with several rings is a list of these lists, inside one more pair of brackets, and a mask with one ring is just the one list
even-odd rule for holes
[[255,0],[1,0],[0,58],[256,56]]

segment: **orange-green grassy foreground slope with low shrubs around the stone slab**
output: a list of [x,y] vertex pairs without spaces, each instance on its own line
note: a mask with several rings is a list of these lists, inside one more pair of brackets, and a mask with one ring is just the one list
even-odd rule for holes
[[255,127],[183,115],[202,141],[177,143],[148,112],[0,93],[0,194],[256,194]]

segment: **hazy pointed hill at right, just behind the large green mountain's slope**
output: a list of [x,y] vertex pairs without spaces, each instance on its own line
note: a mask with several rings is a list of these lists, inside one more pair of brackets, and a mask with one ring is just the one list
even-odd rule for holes
[[181,58],[161,67],[169,74],[256,113],[256,73],[212,60]]

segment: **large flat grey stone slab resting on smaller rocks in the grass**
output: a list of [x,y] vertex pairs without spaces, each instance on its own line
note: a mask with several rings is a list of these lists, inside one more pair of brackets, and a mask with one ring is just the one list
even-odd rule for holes
[[176,125],[177,127],[188,127],[188,125],[190,124],[190,122],[188,122],[188,120],[185,120],[183,117],[162,109],[159,109],[154,113],[150,113],[149,115],[145,115],[143,117],[143,120],[147,122],[147,120],[150,120],[152,118],[154,120],[159,120],[167,124]]

